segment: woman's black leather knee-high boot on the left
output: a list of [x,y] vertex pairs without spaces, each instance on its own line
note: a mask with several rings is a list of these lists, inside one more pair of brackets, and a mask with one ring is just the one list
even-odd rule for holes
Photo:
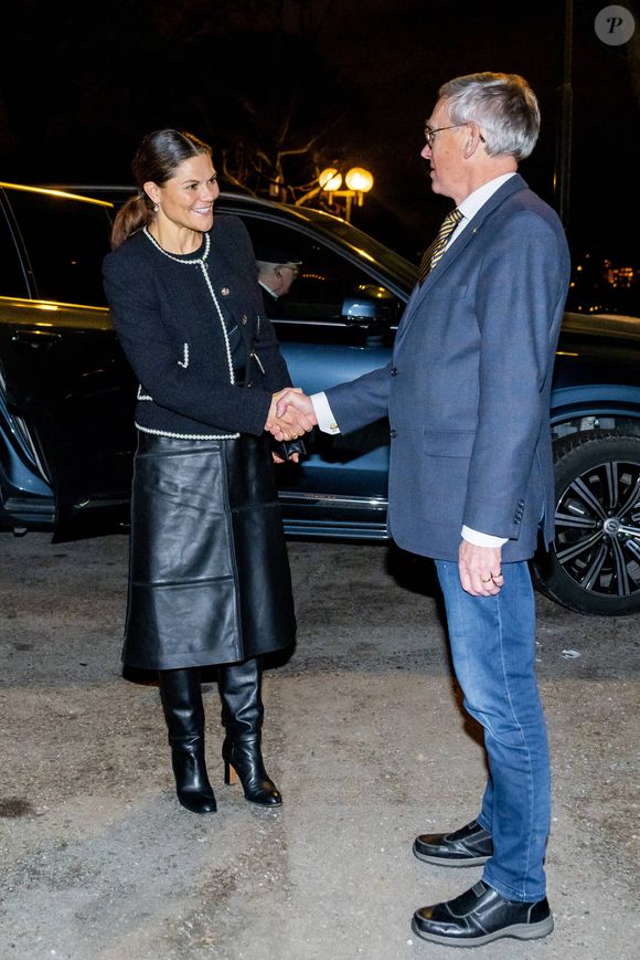
[[192,813],[215,813],[204,761],[204,708],[200,669],[158,671],[178,800]]

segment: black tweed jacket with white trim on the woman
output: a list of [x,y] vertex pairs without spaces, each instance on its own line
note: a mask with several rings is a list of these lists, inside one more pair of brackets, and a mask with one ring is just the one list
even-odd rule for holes
[[140,382],[139,430],[203,440],[263,433],[271,393],[291,381],[238,218],[214,217],[202,247],[186,256],[167,254],[140,231],[107,254],[103,275]]

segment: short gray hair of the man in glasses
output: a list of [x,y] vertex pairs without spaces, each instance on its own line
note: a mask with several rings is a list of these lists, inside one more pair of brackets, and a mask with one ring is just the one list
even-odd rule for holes
[[524,160],[540,133],[540,107],[532,88],[516,73],[470,73],[442,84],[452,124],[474,120],[490,157]]

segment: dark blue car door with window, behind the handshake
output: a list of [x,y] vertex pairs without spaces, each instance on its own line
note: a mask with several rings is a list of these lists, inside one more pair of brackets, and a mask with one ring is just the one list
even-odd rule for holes
[[[243,212],[254,241],[296,251],[302,262],[289,293],[266,310],[294,383],[313,393],[387,363],[403,302],[374,272],[319,231]],[[346,436],[314,432],[299,466],[278,470],[289,534],[386,536],[386,418]]]

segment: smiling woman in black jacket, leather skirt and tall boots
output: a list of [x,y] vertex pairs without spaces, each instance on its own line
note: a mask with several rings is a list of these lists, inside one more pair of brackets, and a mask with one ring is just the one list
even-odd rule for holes
[[216,809],[204,758],[200,668],[217,666],[225,781],[281,803],[260,751],[260,655],[295,634],[273,478],[270,430],[290,383],[263,315],[242,221],[213,217],[211,148],[191,134],[146,136],[138,196],[118,213],[104,279],[138,380],[129,601],[122,660],[157,669],[180,803]]

